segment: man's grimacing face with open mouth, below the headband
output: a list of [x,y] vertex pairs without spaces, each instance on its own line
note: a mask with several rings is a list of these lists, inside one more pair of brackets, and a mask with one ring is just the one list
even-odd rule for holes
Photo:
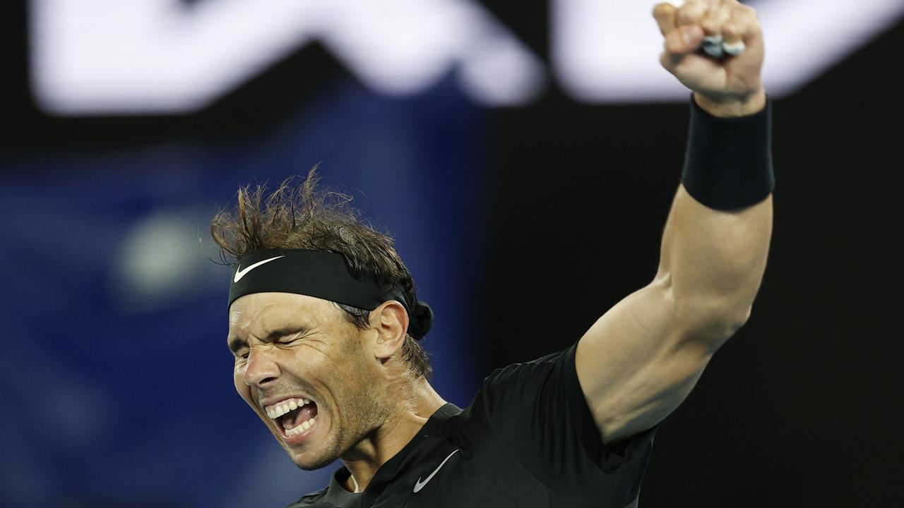
[[241,296],[230,307],[235,389],[302,469],[328,466],[389,414],[370,347],[376,332],[342,313],[288,293]]

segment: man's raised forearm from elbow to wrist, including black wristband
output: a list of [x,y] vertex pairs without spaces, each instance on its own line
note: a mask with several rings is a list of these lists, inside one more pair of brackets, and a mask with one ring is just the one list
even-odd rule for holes
[[[742,103],[695,99],[720,118],[748,116],[766,105],[760,92]],[[772,232],[767,112],[758,117],[763,121],[712,120],[696,113],[705,121],[692,122],[686,164],[700,171],[685,167],[666,221],[657,279],[668,282],[688,315],[736,327],[757,294]],[[718,143],[711,144],[714,139]],[[743,204],[727,206],[737,200]]]

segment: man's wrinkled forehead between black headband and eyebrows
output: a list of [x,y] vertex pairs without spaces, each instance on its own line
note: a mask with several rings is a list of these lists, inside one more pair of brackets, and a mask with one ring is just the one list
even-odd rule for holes
[[254,293],[232,302],[230,334],[257,332],[259,328],[285,325],[325,325],[340,317],[332,302],[293,293]]

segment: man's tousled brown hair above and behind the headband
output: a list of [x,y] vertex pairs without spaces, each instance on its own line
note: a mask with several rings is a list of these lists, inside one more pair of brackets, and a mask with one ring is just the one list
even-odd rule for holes
[[[272,193],[259,184],[239,188],[234,211],[221,211],[211,222],[211,236],[220,246],[223,264],[235,266],[258,249],[313,249],[342,254],[355,277],[371,276],[400,287],[409,302],[417,302],[414,280],[393,247],[392,237],[376,230],[351,206],[352,196],[320,189],[317,166],[296,183],[290,177]],[[370,326],[365,309],[335,304],[360,330]],[[405,335],[402,358],[416,376],[433,373],[427,353],[411,334]]]

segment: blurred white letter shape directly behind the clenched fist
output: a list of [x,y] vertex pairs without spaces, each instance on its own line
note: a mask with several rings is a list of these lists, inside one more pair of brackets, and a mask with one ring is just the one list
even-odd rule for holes
[[[770,95],[800,89],[895,24],[904,0],[758,0]],[[687,89],[659,65],[662,37],[631,0],[552,0],[551,62],[561,86],[588,102],[684,100]]]

